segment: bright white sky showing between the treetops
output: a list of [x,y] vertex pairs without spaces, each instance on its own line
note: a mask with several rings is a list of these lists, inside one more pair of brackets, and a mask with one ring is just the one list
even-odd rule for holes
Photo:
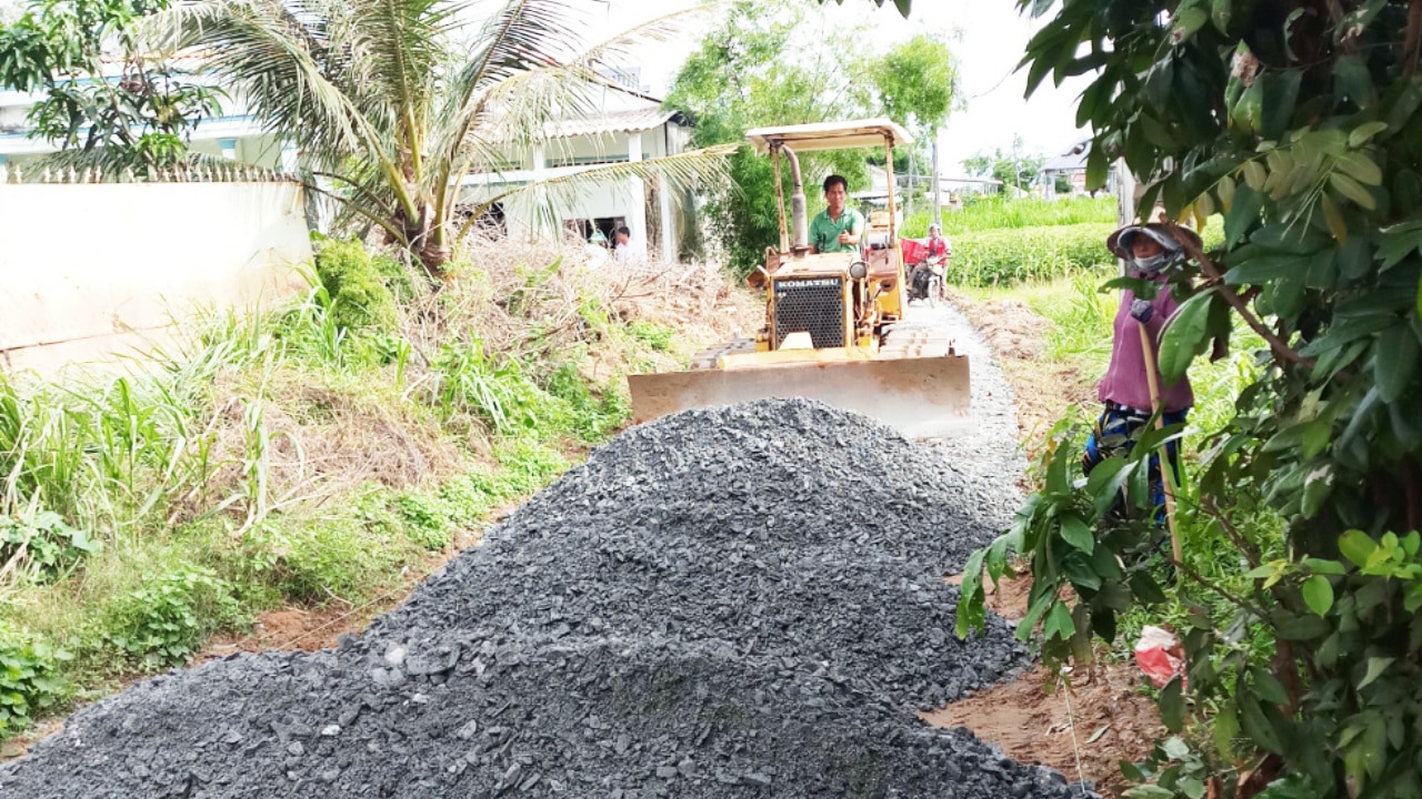
[[[582,4],[596,36],[695,6],[697,0],[582,0]],[[914,0],[913,7],[909,20],[899,16],[893,3],[880,9],[870,0],[843,0],[842,7],[830,1],[822,13],[849,26],[869,23],[882,48],[920,31],[947,37],[958,60],[967,108],[953,114],[940,136],[946,176],[961,173],[958,162],[964,158],[994,148],[1010,149],[1014,135],[1022,136],[1028,154],[1041,152],[1048,158],[1088,138],[1088,131],[1076,129],[1075,118],[1076,97],[1089,80],[1068,80],[1058,88],[1048,78],[1031,100],[1022,98],[1027,73],[1015,67],[1042,20],[1020,16],[1014,0]],[[688,34],[678,41],[640,45],[631,55],[643,68],[643,82],[660,95],[694,45],[695,36]]]

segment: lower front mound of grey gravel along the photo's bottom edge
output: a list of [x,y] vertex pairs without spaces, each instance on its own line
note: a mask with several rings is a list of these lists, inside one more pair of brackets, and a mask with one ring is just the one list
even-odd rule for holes
[[910,724],[806,664],[665,640],[468,638],[405,663],[439,667],[455,648],[452,670],[401,688],[363,680],[373,661],[356,651],[240,655],[151,681],[81,712],[0,786],[104,799],[1072,796],[1059,775]]

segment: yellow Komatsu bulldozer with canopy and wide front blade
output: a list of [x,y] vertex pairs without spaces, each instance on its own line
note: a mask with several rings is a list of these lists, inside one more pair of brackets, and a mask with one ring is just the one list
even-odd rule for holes
[[[775,169],[781,239],[748,283],[765,290],[754,340],[697,354],[683,372],[634,374],[637,422],[710,405],[806,397],[877,418],[912,438],[950,435],[968,417],[968,363],[930,327],[904,323],[893,148],[913,144],[889,119],[757,128],[747,139]],[[808,243],[798,154],[882,146],[887,209],[870,213],[857,252],[815,253]],[[789,215],[781,171],[788,165]]]

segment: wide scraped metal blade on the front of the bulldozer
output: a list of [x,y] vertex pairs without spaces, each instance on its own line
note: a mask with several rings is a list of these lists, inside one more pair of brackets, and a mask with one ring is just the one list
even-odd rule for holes
[[966,355],[634,374],[627,385],[636,422],[691,408],[805,397],[873,417],[907,438],[947,436],[968,427]]

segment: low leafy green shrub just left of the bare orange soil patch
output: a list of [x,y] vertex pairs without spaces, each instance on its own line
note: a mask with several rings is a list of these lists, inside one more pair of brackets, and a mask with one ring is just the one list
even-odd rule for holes
[[145,671],[181,665],[212,633],[236,624],[233,587],[210,569],[179,566],[111,604],[104,640]]

